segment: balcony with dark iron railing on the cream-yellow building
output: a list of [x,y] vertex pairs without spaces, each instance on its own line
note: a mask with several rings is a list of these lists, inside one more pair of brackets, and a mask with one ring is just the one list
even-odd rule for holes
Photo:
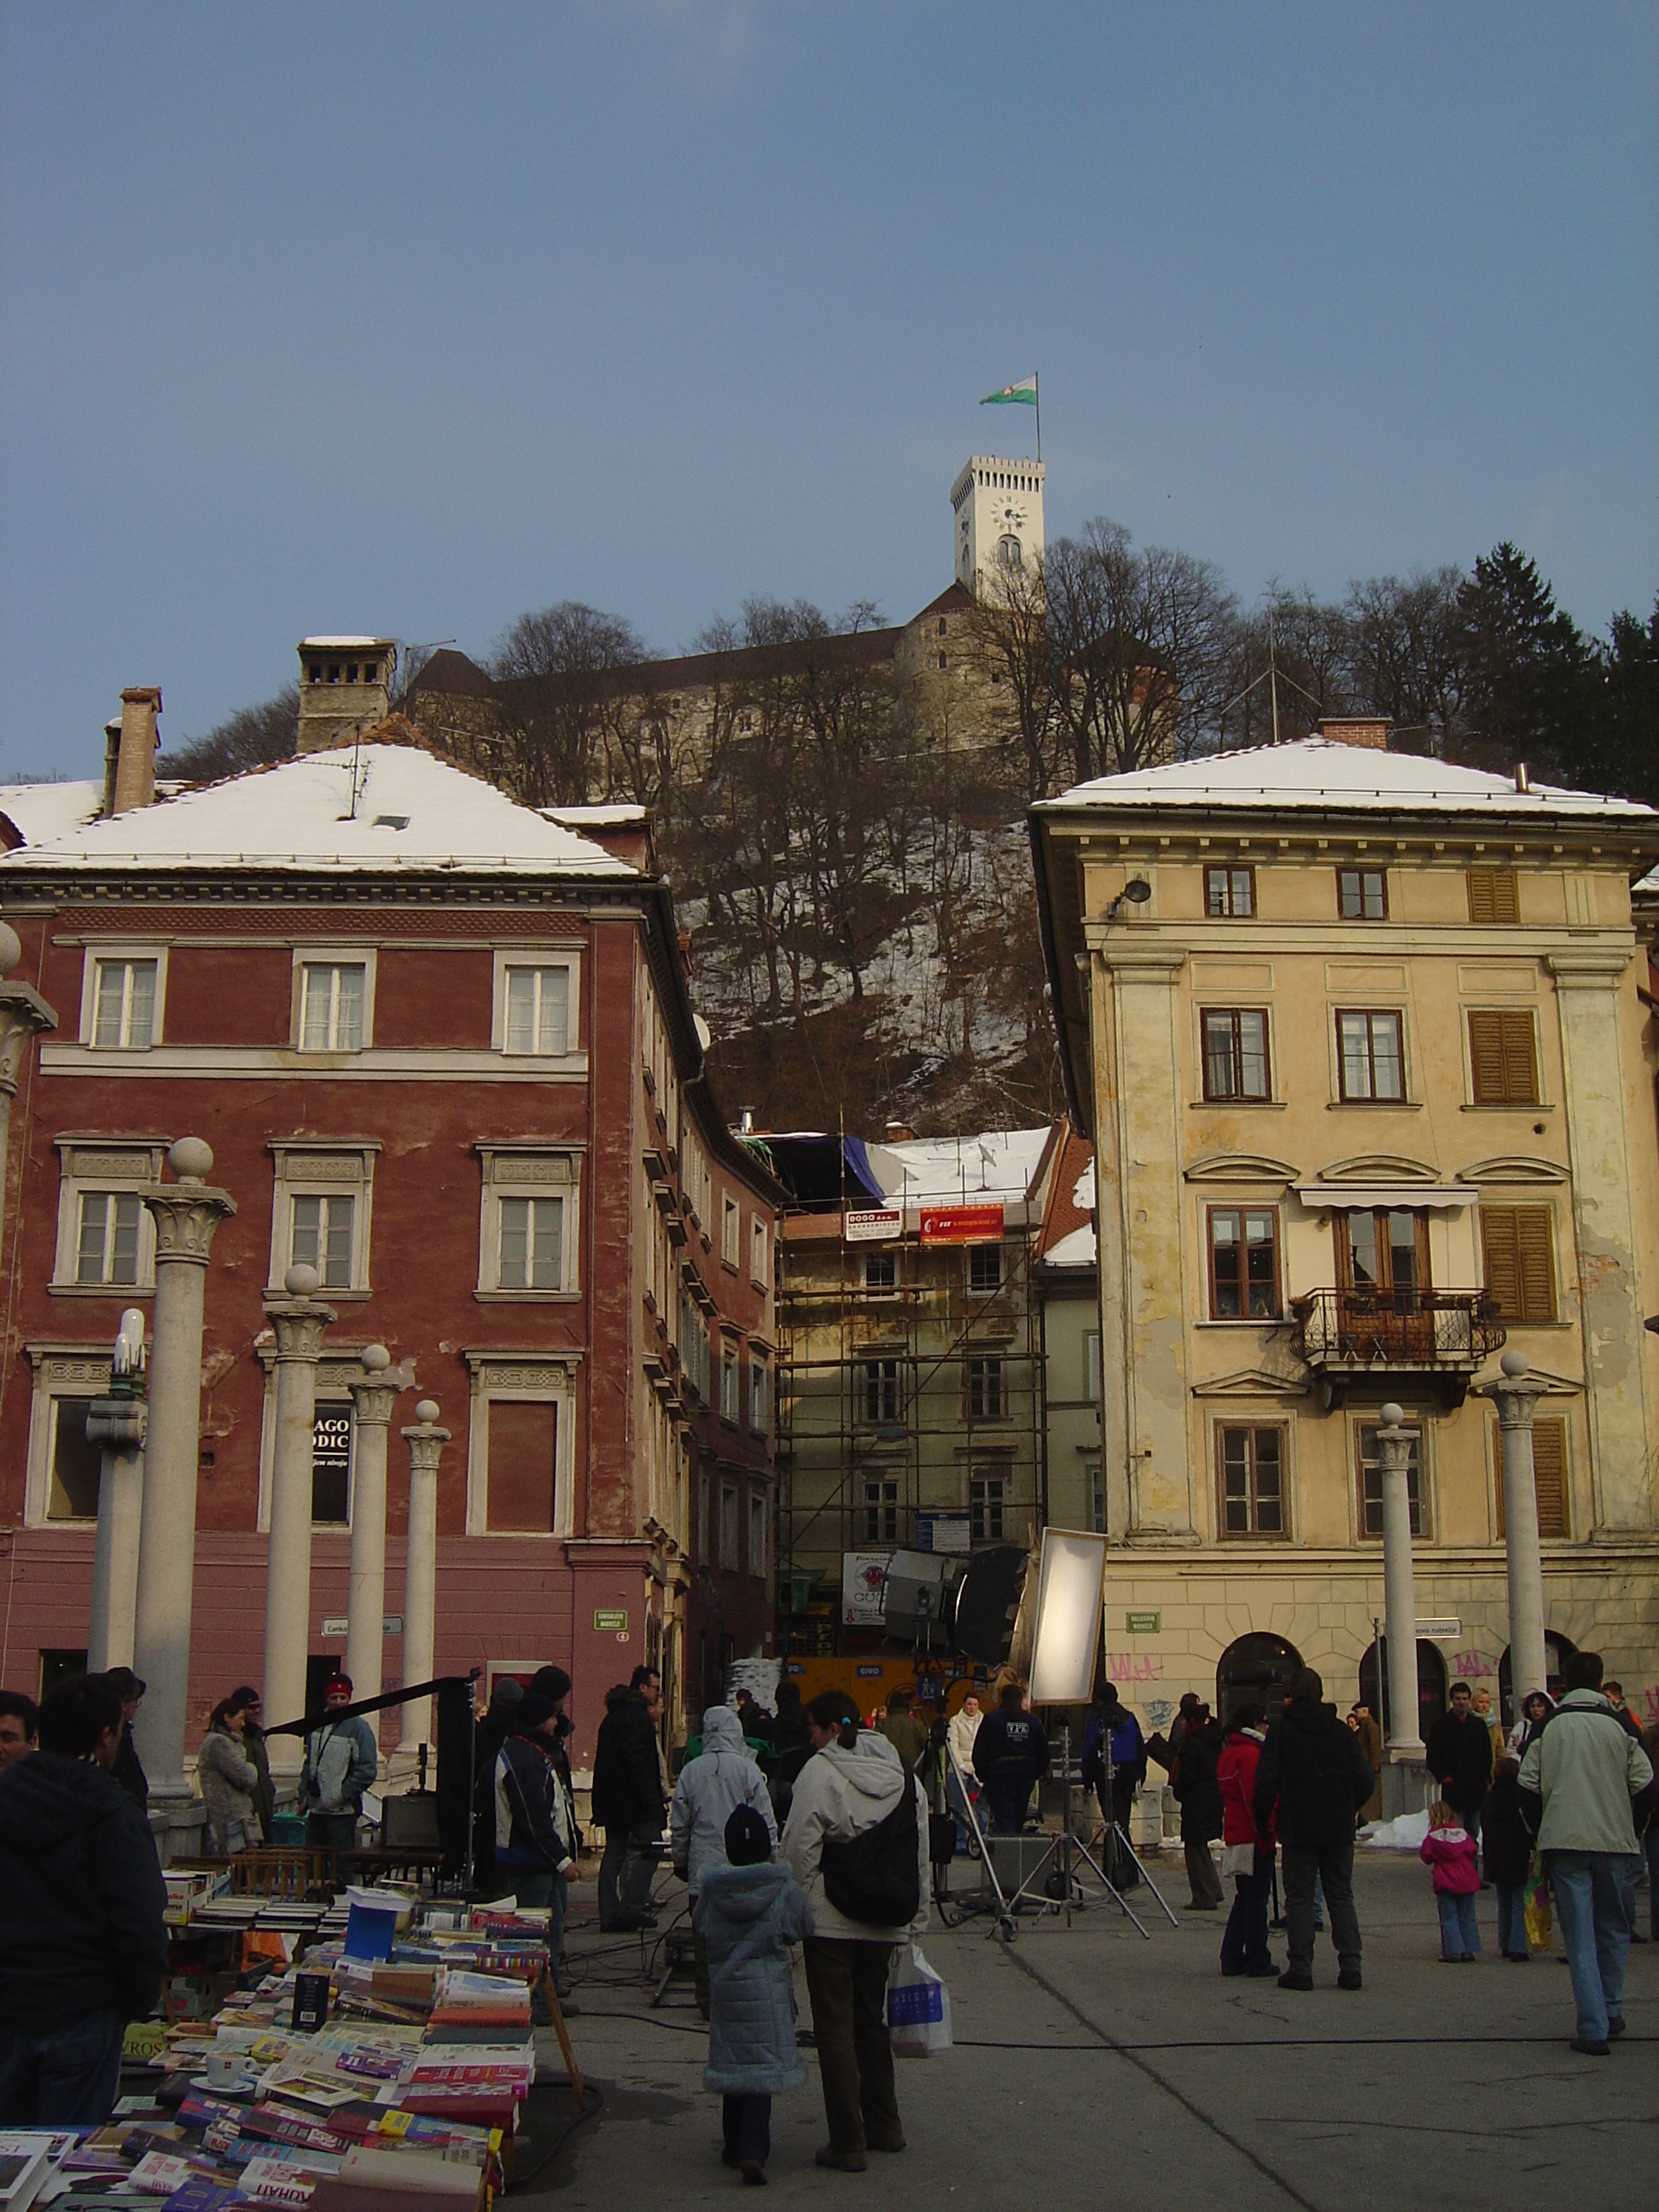
[[1290,1301],[1292,1347],[1314,1369],[1325,1405],[1427,1383],[1447,1409],[1504,1329],[1484,1290],[1310,1290]]

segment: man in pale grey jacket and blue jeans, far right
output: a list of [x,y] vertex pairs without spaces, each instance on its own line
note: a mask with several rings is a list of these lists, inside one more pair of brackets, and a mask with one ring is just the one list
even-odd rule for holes
[[1540,1807],[1537,1847],[1573,1969],[1573,2051],[1604,2059],[1608,2037],[1624,2035],[1637,1825],[1652,1809],[1652,1761],[1601,1697],[1595,1652],[1573,1652],[1562,1677],[1566,1692],[1522,1759],[1520,1790]]

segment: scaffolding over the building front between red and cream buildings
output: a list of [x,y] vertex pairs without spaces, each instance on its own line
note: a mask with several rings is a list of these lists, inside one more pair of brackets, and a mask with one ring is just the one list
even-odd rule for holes
[[1040,1208],[1006,1201],[995,1243],[922,1243],[918,1214],[885,1243],[849,1241],[845,1208],[783,1219],[779,1650],[838,1648],[823,1599],[847,1553],[1033,1542],[1046,1520]]

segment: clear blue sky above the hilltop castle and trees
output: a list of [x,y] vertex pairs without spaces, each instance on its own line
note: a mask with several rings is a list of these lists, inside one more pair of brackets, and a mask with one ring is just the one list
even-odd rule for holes
[[1245,602],[1659,591],[1659,7],[0,0],[0,774],[319,633],[951,580],[1031,451]]

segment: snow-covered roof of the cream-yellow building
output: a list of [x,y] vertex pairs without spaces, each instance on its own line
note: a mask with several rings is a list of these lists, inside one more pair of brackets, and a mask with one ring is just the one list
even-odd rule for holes
[[1057,799],[1042,801],[1035,814],[1075,812],[1079,807],[1310,807],[1345,812],[1349,807],[1389,814],[1504,814],[1562,816],[1597,814],[1619,821],[1655,823],[1652,807],[1632,799],[1601,799],[1595,792],[1568,792],[1553,783],[1533,783],[1522,792],[1513,776],[1484,768],[1453,768],[1413,752],[1383,752],[1371,745],[1343,745],[1329,737],[1301,737],[1290,745],[1252,745],[1245,752],[1212,752],[1197,761],[1170,761],[1166,768],[1137,768],[1126,776],[1095,776]]

